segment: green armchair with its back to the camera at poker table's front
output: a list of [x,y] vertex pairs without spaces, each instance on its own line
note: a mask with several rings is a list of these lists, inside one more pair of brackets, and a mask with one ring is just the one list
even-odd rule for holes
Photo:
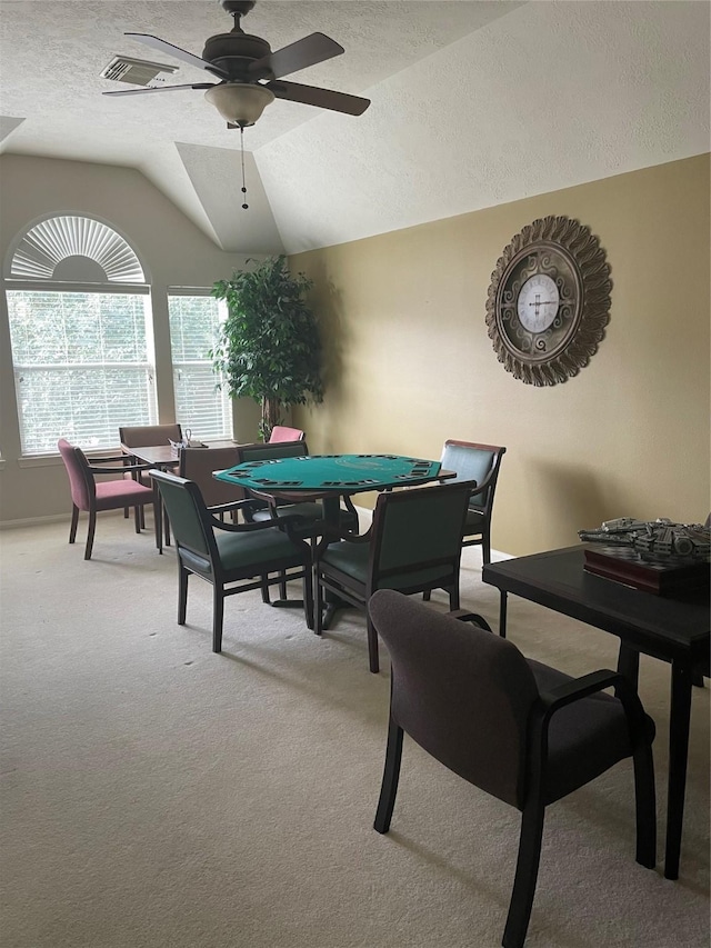
[[[328,537],[314,556],[314,631],[328,628],[322,618],[323,590],[367,611],[377,589],[403,593],[444,589],[450,609],[459,608],[462,531],[473,485],[470,481],[387,491],[378,497],[367,533]],[[368,622],[370,670],[380,668],[378,636]]]

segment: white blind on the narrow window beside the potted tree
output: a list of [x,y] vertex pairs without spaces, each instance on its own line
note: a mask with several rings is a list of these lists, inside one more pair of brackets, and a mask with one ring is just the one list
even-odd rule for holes
[[[207,293],[207,291],[206,291]],[[227,316],[221,300],[169,291],[176,418],[199,440],[232,437],[232,402],[208,352]]]

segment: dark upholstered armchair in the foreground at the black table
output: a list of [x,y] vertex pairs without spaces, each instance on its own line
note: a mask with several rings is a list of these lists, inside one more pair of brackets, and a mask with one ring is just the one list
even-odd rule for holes
[[[634,765],[637,861],[654,868],[654,722],[622,675],[602,670],[571,678],[524,658],[500,636],[388,590],[374,593],[369,612],[392,669],[374,828],[390,828],[403,734],[464,780],[520,810],[504,948],[521,948],[525,939],[545,807],[624,758]],[[611,687],[618,697],[604,693]]]

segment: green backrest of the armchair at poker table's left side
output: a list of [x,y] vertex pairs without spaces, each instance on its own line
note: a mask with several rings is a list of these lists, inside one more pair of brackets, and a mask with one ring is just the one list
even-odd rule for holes
[[213,570],[219,556],[210,515],[198,485],[167,471],[151,470],[151,478],[158,485],[178,548],[192,555],[194,562],[191,565],[200,571]]

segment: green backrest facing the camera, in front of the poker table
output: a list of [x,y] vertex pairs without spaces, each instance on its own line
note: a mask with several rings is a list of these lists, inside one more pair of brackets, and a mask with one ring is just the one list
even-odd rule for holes
[[371,588],[388,576],[449,566],[459,570],[471,481],[380,493],[370,542]]

